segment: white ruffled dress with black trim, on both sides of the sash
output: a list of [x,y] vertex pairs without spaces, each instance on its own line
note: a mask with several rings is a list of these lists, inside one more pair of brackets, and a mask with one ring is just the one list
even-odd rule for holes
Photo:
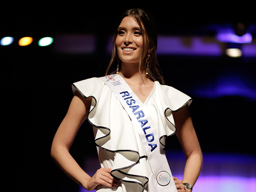
[[[73,92],[92,97],[88,121],[93,126],[101,167],[111,168],[111,175],[121,184],[116,188],[98,186],[98,192],[143,192],[150,190],[152,171],[140,135],[112,90],[99,78],[90,78],[72,85]],[[154,82],[144,105],[151,114],[160,143],[175,133],[172,111],[177,111],[191,98],[167,85]],[[154,182],[154,181],[153,181]]]

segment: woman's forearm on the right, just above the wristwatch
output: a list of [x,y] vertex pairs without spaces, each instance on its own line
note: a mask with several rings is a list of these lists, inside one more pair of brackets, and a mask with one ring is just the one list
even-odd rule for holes
[[193,153],[187,158],[182,179],[183,183],[189,183],[192,186],[195,185],[201,171],[202,161],[203,156],[201,151]]

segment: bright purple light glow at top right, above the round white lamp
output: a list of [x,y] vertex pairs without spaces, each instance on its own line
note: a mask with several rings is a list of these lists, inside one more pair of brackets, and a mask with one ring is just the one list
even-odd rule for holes
[[220,42],[226,43],[252,43],[252,35],[249,33],[243,36],[237,36],[232,29],[221,29],[216,35]]

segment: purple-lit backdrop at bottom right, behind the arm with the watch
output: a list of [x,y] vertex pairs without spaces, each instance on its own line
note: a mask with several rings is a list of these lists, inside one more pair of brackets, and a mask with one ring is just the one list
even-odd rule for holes
[[[182,180],[185,166],[185,156],[182,151],[166,151],[167,160],[171,166],[172,175]],[[242,192],[247,191],[250,186],[256,185],[256,157],[253,155],[205,153],[203,154],[203,167],[196,181],[193,191],[196,192]],[[92,167],[97,167],[97,160],[85,160],[87,166],[84,170],[90,170],[93,175],[95,171]],[[90,163],[90,164],[89,164]],[[98,163],[99,164],[99,163]],[[250,188],[250,190],[254,190]],[[95,191],[95,190],[94,190]],[[79,192],[87,192],[80,187]]]

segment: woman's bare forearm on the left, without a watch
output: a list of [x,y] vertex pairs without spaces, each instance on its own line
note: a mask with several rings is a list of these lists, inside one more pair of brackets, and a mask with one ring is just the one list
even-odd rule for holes
[[51,156],[63,172],[65,172],[77,184],[86,188],[86,181],[91,179],[91,177],[77,164],[67,148],[53,145],[51,149]]

